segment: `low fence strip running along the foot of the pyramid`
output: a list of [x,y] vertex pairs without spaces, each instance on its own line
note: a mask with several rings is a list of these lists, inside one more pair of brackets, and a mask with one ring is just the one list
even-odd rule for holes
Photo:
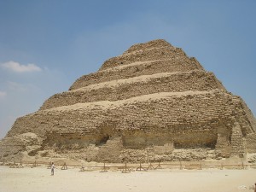
[[[25,165],[23,165],[23,163]],[[7,160],[0,161],[0,166],[9,166],[9,168],[23,168],[24,166],[31,166],[37,167],[41,165],[47,165],[47,168],[50,168],[51,162],[45,162],[45,161],[21,161],[20,164],[14,162],[8,162]],[[61,166],[61,170],[67,170],[67,163],[63,160],[55,161],[55,166]],[[119,163],[96,163],[96,166],[76,166],[74,165],[68,165],[72,167],[79,167],[80,172],[85,171],[97,171],[100,170],[100,172],[108,172],[108,170],[119,170],[124,173],[129,173],[132,171],[148,171],[148,170],[156,170],[156,169],[177,169],[177,170],[202,170],[202,169],[248,169],[253,168],[256,169],[256,163],[244,163],[241,160],[241,163],[227,163],[227,162],[205,162],[205,161],[199,161],[199,162],[189,162],[189,161],[178,161],[178,162],[172,162],[172,161],[158,161],[157,162],[143,162],[140,160],[139,164],[136,163],[129,163],[125,162],[123,164]]]

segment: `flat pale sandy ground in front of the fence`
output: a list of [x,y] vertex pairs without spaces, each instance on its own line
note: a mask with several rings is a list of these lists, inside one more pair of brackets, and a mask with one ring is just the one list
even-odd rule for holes
[[55,169],[46,166],[9,168],[0,166],[1,192],[253,192],[256,170],[150,170],[79,172],[79,167]]

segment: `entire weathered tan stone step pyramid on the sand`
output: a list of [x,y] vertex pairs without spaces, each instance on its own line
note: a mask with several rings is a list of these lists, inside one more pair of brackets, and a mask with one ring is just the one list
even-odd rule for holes
[[135,44],[16,119],[2,159],[202,160],[256,152],[253,113],[165,40]]

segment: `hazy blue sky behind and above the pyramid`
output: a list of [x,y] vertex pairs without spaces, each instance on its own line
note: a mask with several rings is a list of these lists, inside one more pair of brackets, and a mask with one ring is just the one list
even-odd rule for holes
[[256,114],[254,0],[0,0],[0,138],[132,44],[164,38]]

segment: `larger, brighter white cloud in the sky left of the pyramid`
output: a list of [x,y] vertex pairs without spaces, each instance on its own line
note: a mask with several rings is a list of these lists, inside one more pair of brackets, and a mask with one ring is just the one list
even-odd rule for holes
[[1,66],[17,73],[42,71],[40,67],[32,63],[28,63],[27,65],[22,65],[19,62],[8,61],[3,63]]

